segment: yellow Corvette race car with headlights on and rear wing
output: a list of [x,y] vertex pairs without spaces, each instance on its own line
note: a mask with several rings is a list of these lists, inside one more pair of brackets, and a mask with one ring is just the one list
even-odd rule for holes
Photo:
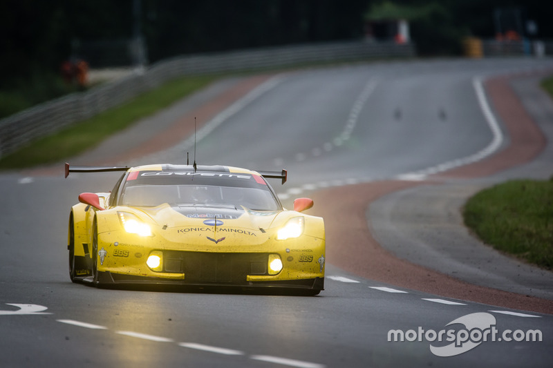
[[82,193],[69,215],[73,282],[324,289],[321,217],[283,209],[266,178],[229,166],[90,167],[124,171],[110,193]]

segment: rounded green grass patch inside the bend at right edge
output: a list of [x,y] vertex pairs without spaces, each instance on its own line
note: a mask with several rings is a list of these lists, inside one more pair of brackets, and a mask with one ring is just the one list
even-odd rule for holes
[[553,269],[553,179],[514,180],[471,197],[465,224],[484,242]]

